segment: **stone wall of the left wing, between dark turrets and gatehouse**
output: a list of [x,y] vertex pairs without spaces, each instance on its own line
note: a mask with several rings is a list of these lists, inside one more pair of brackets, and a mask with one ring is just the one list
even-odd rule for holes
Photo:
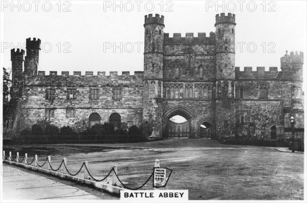
[[[23,120],[20,128],[31,127],[36,120],[45,117],[46,109],[54,110],[51,121],[62,127],[72,126],[76,118],[89,118],[98,113],[101,123],[108,121],[112,113],[119,113],[121,120],[129,126],[142,125],[143,83],[142,74],[119,76],[60,76],[37,75],[26,80],[21,103]],[[114,96],[114,89],[120,88],[120,97]],[[46,99],[47,89],[55,90],[54,99]],[[68,98],[68,89],[76,90],[75,98]],[[90,98],[91,89],[97,89],[99,97]],[[67,117],[66,111],[75,111],[74,117]],[[21,130],[22,130],[21,129]]]

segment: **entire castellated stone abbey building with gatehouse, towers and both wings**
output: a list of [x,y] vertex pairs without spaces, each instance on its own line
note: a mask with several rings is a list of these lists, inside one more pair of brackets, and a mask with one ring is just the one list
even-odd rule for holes
[[[37,70],[40,39],[11,50],[12,98],[5,111],[4,138],[14,139],[37,119],[59,128],[76,118],[90,125],[109,121],[142,127],[145,137],[229,137],[268,140],[303,137],[303,53],[288,52],[280,69],[235,67],[235,15],[215,16],[215,32],[164,33],[164,16],[145,15],[144,71],[81,72]],[[184,118],[182,122],[172,119]],[[11,132],[16,132],[12,135]]]

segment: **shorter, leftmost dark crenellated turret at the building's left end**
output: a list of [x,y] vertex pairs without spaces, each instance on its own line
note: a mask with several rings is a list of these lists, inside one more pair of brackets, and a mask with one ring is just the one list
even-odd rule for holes
[[11,96],[12,98],[21,97],[22,87],[24,81],[23,67],[24,67],[24,55],[23,49],[11,50],[11,61],[12,61],[12,87]]

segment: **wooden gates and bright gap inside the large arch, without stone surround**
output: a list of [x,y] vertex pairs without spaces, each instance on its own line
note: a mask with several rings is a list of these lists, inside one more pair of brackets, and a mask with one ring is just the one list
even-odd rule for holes
[[182,111],[171,113],[167,117],[168,137],[189,137],[191,134],[191,118]]

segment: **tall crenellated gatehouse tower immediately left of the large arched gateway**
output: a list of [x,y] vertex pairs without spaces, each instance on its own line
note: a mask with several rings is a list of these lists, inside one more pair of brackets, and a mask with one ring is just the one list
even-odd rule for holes
[[145,15],[143,133],[162,136],[162,79],[164,16]]

